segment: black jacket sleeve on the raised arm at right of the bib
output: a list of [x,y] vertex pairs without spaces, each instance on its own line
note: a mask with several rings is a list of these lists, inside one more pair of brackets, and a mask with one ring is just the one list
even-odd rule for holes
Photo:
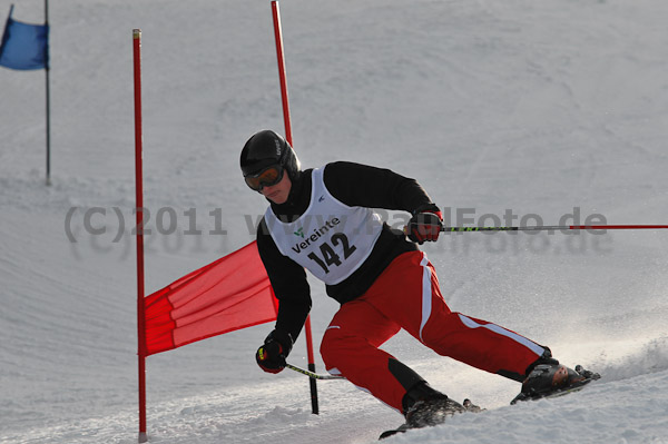
[[337,161],[327,164],[324,180],[332,196],[348,206],[410,213],[438,209],[415,179],[390,169]]

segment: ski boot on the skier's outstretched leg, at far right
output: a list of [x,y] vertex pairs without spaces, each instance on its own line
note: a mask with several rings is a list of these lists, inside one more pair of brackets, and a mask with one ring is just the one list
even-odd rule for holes
[[541,397],[553,397],[581,389],[586,384],[601,376],[582,368],[576,369],[559,364],[557,359],[544,359],[547,362],[537,364],[527,374],[522,383],[522,389],[518,396],[510,402],[539,399]]

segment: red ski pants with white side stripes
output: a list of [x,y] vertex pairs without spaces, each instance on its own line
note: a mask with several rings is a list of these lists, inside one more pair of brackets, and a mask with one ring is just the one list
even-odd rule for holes
[[401,328],[439,355],[502,375],[523,375],[544,352],[514,332],[451,312],[426,255],[410,251],[334,315],[321,344],[327,371],[402,412],[409,387],[390,371],[393,356],[379,349]]

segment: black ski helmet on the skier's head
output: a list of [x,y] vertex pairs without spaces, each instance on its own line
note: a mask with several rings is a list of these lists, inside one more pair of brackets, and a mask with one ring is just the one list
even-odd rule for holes
[[302,168],[289,144],[268,129],[254,134],[244,145],[240,165],[244,177],[257,174],[271,165],[281,165],[292,181],[298,178]]

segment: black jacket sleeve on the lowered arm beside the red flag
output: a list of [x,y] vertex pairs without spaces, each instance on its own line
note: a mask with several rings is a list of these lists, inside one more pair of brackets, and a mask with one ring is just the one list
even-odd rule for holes
[[306,272],[281,254],[264,218],[257,226],[257,250],[278,299],[276,328],[289,333],[292,339],[296,341],[311,312],[311,288]]

